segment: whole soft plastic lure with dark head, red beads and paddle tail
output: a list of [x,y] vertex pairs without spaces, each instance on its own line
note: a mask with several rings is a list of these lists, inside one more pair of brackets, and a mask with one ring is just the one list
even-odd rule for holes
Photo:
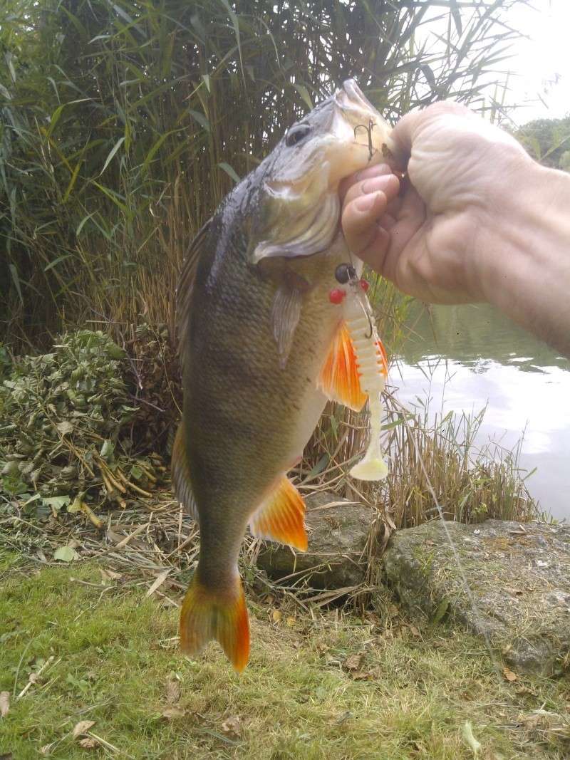
[[[368,283],[356,275],[353,267],[341,264],[337,268],[337,280],[342,288],[331,290],[329,298],[342,308],[346,337],[349,346],[344,350],[353,351],[356,366],[356,382],[359,385],[359,399],[348,404],[351,408],[362,408],[369,397],[370,440],[364,458],[355,464],[350,474],[359,480],[382,480],[388,475],[388,466],[382,455],[380,433],[382,432],[382,391],[388,375],[388,362],[382,341],[378,338],[374,315],[370,308],[366,290]],[[345,343],[348,341],[345,340]]]

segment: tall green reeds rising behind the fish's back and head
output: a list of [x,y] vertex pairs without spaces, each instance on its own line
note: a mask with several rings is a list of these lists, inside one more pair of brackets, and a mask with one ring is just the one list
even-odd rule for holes
[[141,312],[171,326],[192,236],[287,125],[347,77],[391,119],[481,106],[508,4],[6,0],[0,340]]

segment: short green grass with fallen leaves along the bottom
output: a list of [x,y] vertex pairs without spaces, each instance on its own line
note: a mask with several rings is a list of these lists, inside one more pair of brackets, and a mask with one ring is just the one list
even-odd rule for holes
[[[250,592],[252,658],[236,676],[214,647],[179,654],[177,610],[147,583],[103,581],[93,562],[22,562],[0,556],[0,754],[461,760],[469,720],[481,758],[568,756],[567,683],[506,682],[479,641],[389,602],[382,617],[299,616]],[[74,738],[82,720],[93,724]]]

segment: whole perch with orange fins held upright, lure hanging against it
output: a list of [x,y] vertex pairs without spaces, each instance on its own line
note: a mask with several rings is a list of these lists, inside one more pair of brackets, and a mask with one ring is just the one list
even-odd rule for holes
[[385,353],[340,231],[338,185],[380,163],[390,128],[348,80],[287,129],[192,243],[177,290],[184,409],[173,488],[200,527],[180,616],[182,651],[212,638],[241,671],[249,620],[237,566],[252,534],[307,548],[305,505],[287,478],[328,398],[372,435],[351,474],[380,480]]

